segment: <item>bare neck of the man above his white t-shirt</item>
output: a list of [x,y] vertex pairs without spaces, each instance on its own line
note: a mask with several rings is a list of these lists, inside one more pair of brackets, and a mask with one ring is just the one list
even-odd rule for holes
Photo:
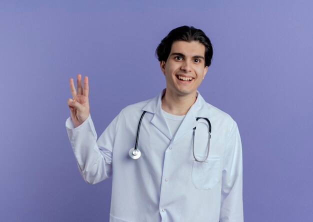
[[192,95],[179,96],[166,90],[162,97],[162,109],[173,115],[185,115],[196,100],[195,94],[196,92]]

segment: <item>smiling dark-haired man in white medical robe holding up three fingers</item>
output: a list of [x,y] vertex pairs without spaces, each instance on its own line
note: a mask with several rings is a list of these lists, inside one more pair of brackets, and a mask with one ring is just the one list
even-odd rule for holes
[[123,108],[98,139],[88,77],[82,86],[77,75],[77,91],[70,78],[65,124],[82,177],[93,184],[112,176],[110,222],[242,222],[237,124],[197,91],[211,63],[209,38],[192,26],[177,27],[156,55],[166,88]]

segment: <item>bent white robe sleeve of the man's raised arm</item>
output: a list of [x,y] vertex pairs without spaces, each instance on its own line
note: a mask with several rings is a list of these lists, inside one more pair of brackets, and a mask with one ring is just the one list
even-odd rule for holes
[[87,183],[94,184],[112,175],[112,150],[120,114],[98,139],[90,115],[76,128],[71,117],[66,119],[65,127],[78,169]]

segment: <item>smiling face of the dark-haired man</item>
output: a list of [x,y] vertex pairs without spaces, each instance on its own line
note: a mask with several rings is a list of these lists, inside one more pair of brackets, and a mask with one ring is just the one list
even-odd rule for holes
[[204,66],[205,47],[198,41],[174,41],[168,58],[160,61],[166,78],[166,93],[188,96],[196,93],[207,71]]

